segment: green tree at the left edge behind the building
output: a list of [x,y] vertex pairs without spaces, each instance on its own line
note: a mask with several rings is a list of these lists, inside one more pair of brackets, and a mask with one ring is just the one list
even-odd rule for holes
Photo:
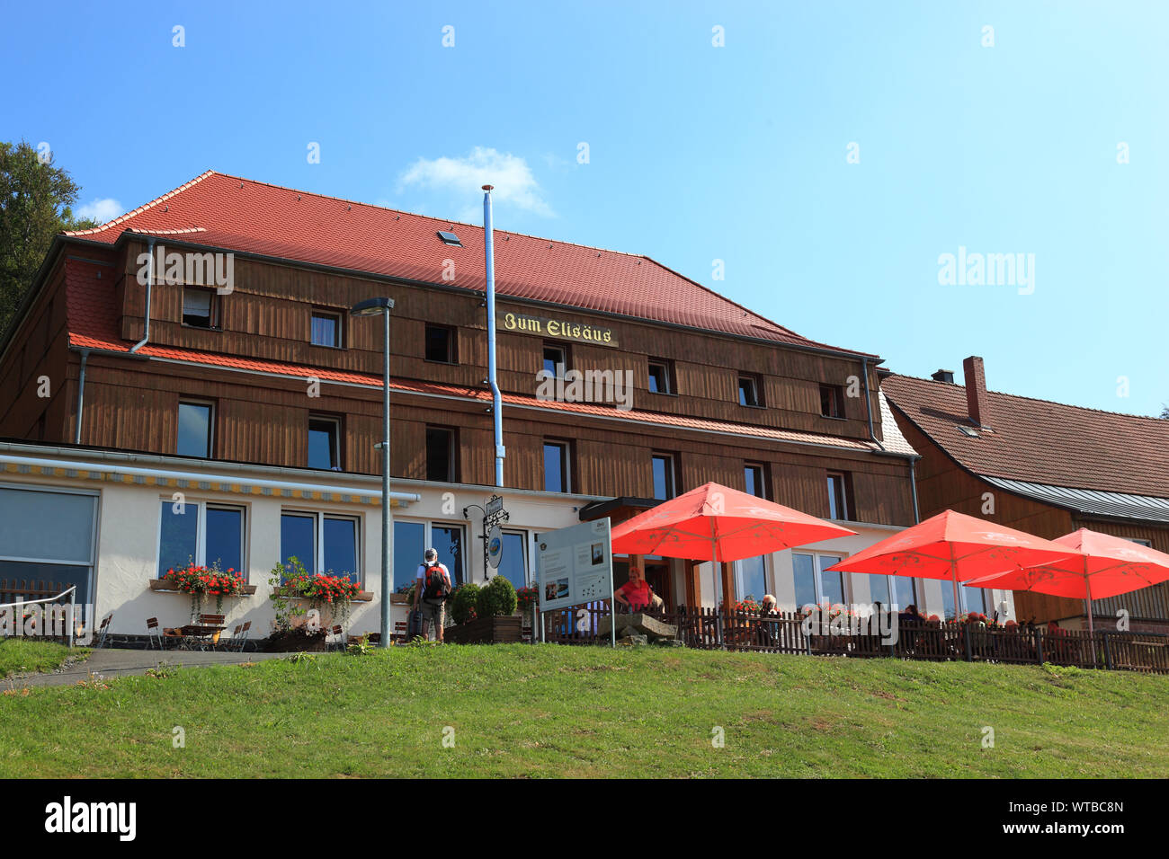
[[72,205],[81,189],[69,172],[42,164],[27,140],[0,141],[0,333],[61,230],[88,229],[97,222],[76,219]]

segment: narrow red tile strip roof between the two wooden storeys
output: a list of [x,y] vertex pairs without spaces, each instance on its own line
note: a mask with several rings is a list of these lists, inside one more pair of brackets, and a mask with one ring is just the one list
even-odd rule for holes
[[[81,259],[69,259],[67,262],[65,295],[68,297],[67,303],[69,309],[69,342],[72,346],[83,348],[129,352],[133,344],[129,340],[123,340],[118,334],[117,317],[115,316],[113,282],[109,277],[99,278],[97,273],[101,269],[102,266]],[[109,270],[106,269],[106,271]],[[380,388],[382,385],[381,376],[372,376],[364,373],[333,370],[324,367],[309,367],[297,363],[282,363],[278,361],[257,361],[216,352],[199,352],[195,349],[159,346],[157,344],[146,344],[138,351],[137,354],[145,355],[147,358],[167,359],[208,367],[228,367],[233,369],[256,370],[260,373],[272,373],[304,379],[316,376],[325,382],[348,382],[353,385],[368,386],[371,388]],[[491,402],[491,392],[486,388],[466,388],[457,385],[442,385],[438,382],[423,382],[409,379],[392,379],[390,387],[403,394],[454,396],[464,400],[478,400],[485,403]],[[579,415],[639,422],[644,424],[657,424],[662,427],[735,434],[776,442],[791,442],[796,444],[818,444],[864,451],[877,449],[877,445],[871,442],[852,438],[838,438],[836,436],[822,436],[814,432],[796,432],[790,430],[772,429],[768,427],[739,424],[728,421],[708,421],[705,418],[664,415],[655,411],[639,411],[636,409],[618,411],[613,406],[555,402],[538,400],[534,396],[520,396],[518,394],[504,394],[503,399],[504,403],[509,406],[542,409],[548,411],[566,411]]]

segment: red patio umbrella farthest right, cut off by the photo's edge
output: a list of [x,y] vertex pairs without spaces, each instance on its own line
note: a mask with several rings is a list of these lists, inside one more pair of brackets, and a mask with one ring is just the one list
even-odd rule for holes
[[1169,555],[1148,546],[1088,528],[1064,534],[1053,542],[1075,554],[1053,563],[984,576],[969,584],[1087,600],[1088,632],[1093,632],[1093,598],[1104,600],[1169,581]]

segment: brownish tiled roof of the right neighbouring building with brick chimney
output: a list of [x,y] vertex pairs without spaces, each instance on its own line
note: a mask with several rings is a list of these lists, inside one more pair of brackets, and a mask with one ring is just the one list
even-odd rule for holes
[[1169,421],[988,392],[994,431],[969,436],[959,429],[974,428],[961,385],[893,374],[881,390],[975,474],[1061,491],[1169,498]]

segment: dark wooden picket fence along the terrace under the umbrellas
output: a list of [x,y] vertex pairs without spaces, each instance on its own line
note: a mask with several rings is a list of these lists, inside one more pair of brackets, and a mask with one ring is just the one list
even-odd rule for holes
[[[809,635],[803,615],[779,612],[770,616],[690,609],[650,612],[663,623],[677,626],[678,639],[698,650],[733,650],[808,656],[891,657],[1004,663],[1015,665],[1074,665],[1081,669],[1114,669],[1169,674],[1169,636],[1097,630],[1049,631],[1044,626],[990,629],[963,624],[898,623],[897,635],[876,629],[857,633],[835,633],[835,628]],[[544,614],[544,639],[553,644],[603,644],[599,636],[601,618],[608,617],[604,603],[588,603]],[[892,624],[886,616],[885,630]],[[539,639],[539,630],[535,638]]]

